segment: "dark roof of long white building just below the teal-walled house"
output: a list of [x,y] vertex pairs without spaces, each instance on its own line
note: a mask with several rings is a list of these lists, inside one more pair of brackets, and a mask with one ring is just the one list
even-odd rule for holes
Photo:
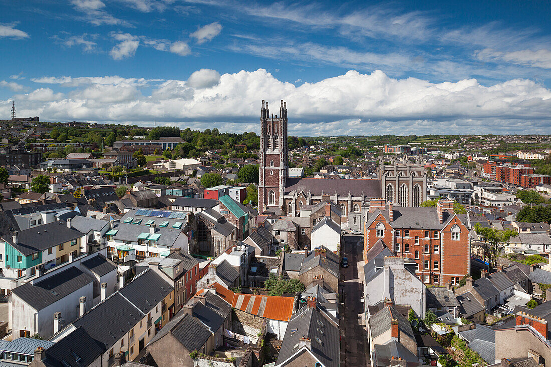
[[[40,279],[40,278],[38,278]],[[93,282],[93,279],[74,266],[34,284],[25,283],[12,289],[33,309],[40,311]]]

